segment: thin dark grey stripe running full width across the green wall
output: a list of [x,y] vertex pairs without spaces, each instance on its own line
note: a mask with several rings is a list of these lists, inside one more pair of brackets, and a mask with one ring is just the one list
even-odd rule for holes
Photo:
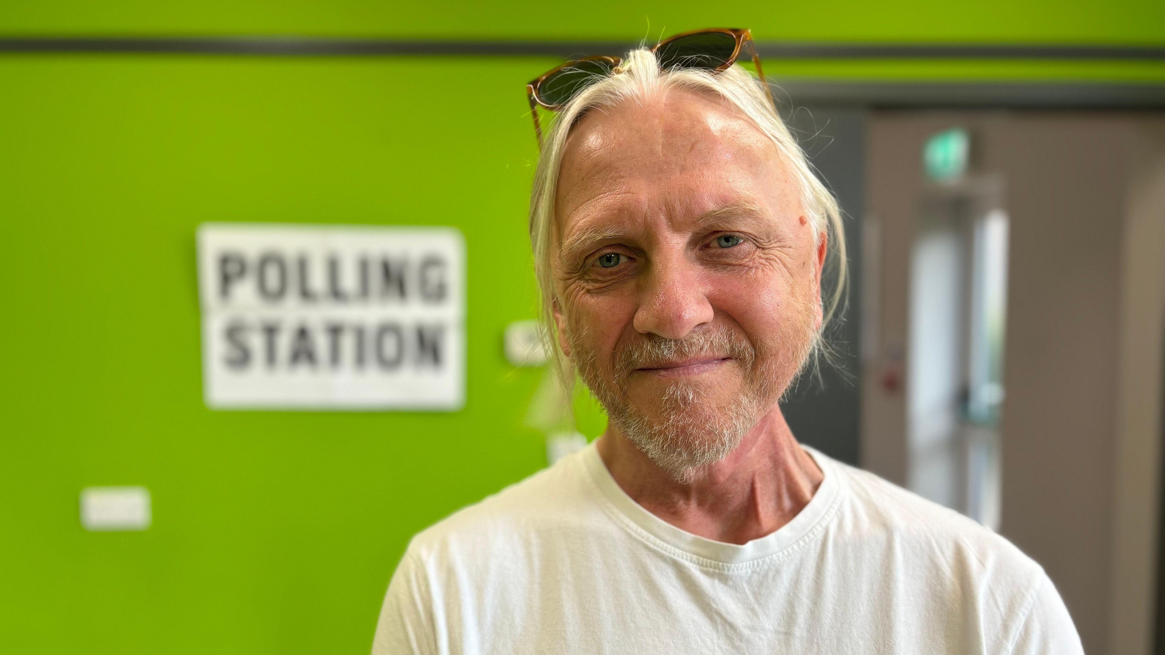
[[[26,37],[0,36],[0,52],[171,52],[267,56],[528,55],[571,57],[621,54],[628,42],[603,41],[398,41],[284,36],[213,37]],[[1072,44],[871,44],[763,42],[762,57],[776,59],[1068,59],[1165,61],[1165,47]]]

